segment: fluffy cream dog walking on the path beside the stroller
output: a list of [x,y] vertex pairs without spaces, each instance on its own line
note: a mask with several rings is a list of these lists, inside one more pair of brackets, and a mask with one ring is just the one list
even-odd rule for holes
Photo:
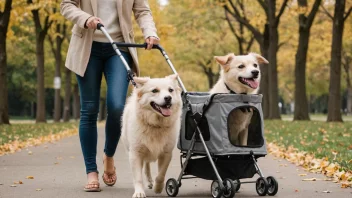
[[[122,117],[122,140],[128,151],[135,192],[146,197],[142,169],[148,187],[161,193],[181,126],[181,90],[177,75],[165,78],[134,78],[137,88],[128,99]],[[153,179],[150,162],[158,160],[158,175]]]

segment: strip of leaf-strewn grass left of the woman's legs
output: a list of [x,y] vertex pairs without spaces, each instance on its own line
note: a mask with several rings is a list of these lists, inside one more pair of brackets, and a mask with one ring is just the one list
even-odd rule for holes
[[76,122],[0,125],[0,145],[14,140],[25,141],[29,138],[56,134],[77,126]]

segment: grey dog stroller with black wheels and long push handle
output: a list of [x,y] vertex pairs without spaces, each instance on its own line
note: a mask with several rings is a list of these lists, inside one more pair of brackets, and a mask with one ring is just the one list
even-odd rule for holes
[[[128,80],[133,81],[133,73],[121,55],[118,47],[146,48],[147,44],[114,43],[102,24],[98,24],[109,39],[117,55],[127,69]],[[165,50],[154,45],[166,59],[172,71],[177,74]],[[264,177],[257,159],[267,154],[264,139],[262,95],[213,94],[187,92],[180,77],[178,82],[183,90],[182,124],[177,147],[181,150],[181,172],[176,179],[166,182],[168,196],[175,197],[182,185],[182,179],[202,178],[213,180],[211,195],[214,198],[232,198],[241,184],[255,183],[258,195],[275,195],[278,183],[272,176]],[[251,110],[250,110],[251,109]],[[229,140],[229,115],[236,110],[253,111],[248,126],[247,145],[234,145]],[[256,181],[241,182],[240,179],[260,177]],[[193,176],[192,176],[193,175]]]

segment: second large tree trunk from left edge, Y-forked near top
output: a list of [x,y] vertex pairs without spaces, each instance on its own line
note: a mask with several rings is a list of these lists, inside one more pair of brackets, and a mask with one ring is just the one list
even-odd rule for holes
[[43,23],[39,15],[42,5],[33,3],[32,0],[27,0],[27,4],[32,6],[31,12],[35,24],[36,35],[36,57],[37,57],[37,113],[36,122],[46,122],[45,116],[45,88],[44,88],[44,41],[48,30],[53,23],[49,14],[44,16]]

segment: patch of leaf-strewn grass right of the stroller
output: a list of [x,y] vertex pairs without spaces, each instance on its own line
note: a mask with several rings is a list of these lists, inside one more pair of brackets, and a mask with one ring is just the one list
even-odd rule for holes
[[[280,146],[293,146],[300,151],[327,157],[342,168],[352,170],[352,122],[265,120],[267,141]],[[337,152],[334,160],[333,152]]]

